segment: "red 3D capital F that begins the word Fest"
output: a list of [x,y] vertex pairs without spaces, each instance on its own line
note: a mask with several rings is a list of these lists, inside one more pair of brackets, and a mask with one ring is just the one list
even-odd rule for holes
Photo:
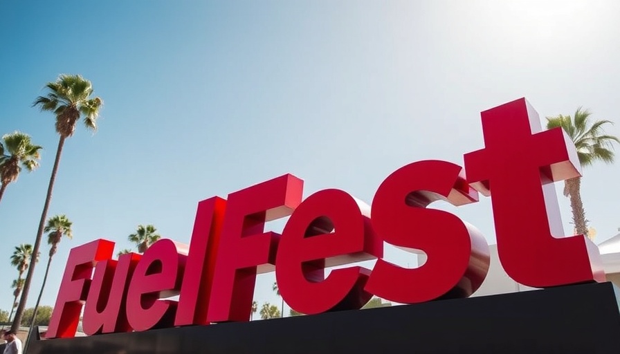
[[280,239],[275,232],[264,232],[265,222],[289,216],[301,203],[302,191],[303,181],[286,174],[228,194],[209,322],[250,320],[256,274],[273,271]]

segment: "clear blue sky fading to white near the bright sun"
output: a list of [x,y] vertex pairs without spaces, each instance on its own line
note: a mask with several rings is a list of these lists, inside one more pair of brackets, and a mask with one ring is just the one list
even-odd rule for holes
[[[34,241],[58,139],[53,115],[30,104],[60,73],[91,80],[104,109],[97,133],[80,126],[65,145],[49,216],[69,216],[75,236],[55,256],[44,305],[70,248],[97,238],[130,248],[140,223],[188,242],[204,198],[292,173],[306,196],[336,187],[370,203],[409,162],[462,165],[483,147],[480,111],[519,97],[541,119],[583,105],[617,121],[618,14],[614,0],[3,1],[0,134],[24,131],[45,149],[0,203],[0,308],[12,302],[13,247]],[[601,242],[620,227],[620,163],[584,172]],[[437,207],[494,243],[490,205]],[[280,304],[273,279],[259,277],[259,303]]]

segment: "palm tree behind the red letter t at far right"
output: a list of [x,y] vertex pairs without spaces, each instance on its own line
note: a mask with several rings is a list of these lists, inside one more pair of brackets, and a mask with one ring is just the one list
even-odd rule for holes
[[[574,142],[581,166],[587,167],[596,161],[614,161],[613,143],[620,142],[617,137],[605,135],[603,126],[613,124],[609,120],[590,121],[590,111],[579,107],[573,117],[556,115],[547,117],[547,129],[562,127]],[[585,209],[581,201],[581,177],[564,181],[564,195],[570,198],[573,223],[577,234],[588,236]]]

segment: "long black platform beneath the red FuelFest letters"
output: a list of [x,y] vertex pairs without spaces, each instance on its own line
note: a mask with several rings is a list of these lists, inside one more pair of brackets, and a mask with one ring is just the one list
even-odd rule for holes
[[612,283],[29,344],[27,354],[620,353]]

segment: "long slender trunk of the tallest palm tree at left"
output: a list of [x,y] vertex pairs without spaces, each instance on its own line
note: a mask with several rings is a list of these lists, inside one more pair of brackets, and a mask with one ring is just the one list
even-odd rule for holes
[[64,136],[60,136],[58,141],[58,148],[56,149],[56,158],[54,160],[54,167],[52,169],[52,176],[50,177],[50,184],[47,188],[47,196],[45,198],[45,204],[43,205],[43,212],[41,213],[41,219],[39,220],[39,230],[37,230],[37,239],[35,239],[35,245],[33,246],[33,254],[30,256],[30,266],[28,266],[28,274],[26,274],[26,280],[24,281],[24,288],[21,289],[21,298],[19,299],[19,305],[15,311],[15,319],[11,324],[11,330],[19,329],[21,324],[21,317],[24,315],[24,308],[26,301],[28,300],[28,292],[30,291],[30,283],[33,281],[33,275],[35,274],[35,263],[37,263],[37,255],[39,254],[39,247],[41,246],[41,239],[43,237],[43,229],[45,227],[45,219],[47,218],[47,212],[50,207],[50,201],[52,200],[52,191],[54,189],[54,182],[56,180],[56,174],[58,172],[58,164],[60,163],[60,155],[62,154],[62,147],[64,146]]

